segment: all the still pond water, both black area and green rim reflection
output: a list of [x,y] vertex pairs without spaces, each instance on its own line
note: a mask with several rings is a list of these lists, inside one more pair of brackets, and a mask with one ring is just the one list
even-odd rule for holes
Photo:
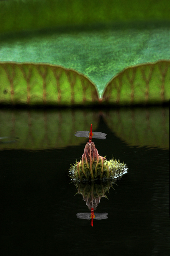
[[[99,155],[124,161],[128,173],[100,198],[95,212],[107,219],[78,219],[89,212],[68,177],[88,138]],[[110,110],[0,110],[1,255],[168,256],[169,108]]]

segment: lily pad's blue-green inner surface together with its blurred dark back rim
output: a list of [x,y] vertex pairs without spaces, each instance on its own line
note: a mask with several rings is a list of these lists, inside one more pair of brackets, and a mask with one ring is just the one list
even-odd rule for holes
[[74,69],[100,96],[123,68],[170,59],[168,0],[8,0],[0,10],[1,61]]

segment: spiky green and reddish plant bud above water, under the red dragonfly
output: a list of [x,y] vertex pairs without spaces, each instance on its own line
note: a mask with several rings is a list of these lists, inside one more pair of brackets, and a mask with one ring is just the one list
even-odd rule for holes
[[94,181],[115,179],[127,173],[127,167],[120,160],[106,160],[98,154],[93,142],[87,142],[82,160],[71,165],[69,171],[72,180]]

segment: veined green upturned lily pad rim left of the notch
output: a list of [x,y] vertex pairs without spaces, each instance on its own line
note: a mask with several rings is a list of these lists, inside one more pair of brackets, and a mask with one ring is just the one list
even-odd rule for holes
[[90,105],[99,102],[95,85],[84,75],[58,65],[0,63],[0,103]]

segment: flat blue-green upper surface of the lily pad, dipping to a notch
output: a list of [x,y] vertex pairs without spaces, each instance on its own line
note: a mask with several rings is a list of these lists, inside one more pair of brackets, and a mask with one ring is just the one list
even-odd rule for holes
[[108,29],[26,33],[0,42],[0,61],[51,63],[88,76],[102,95],[124,68],[170,59],[169,28],[159,23],[113,24]]

